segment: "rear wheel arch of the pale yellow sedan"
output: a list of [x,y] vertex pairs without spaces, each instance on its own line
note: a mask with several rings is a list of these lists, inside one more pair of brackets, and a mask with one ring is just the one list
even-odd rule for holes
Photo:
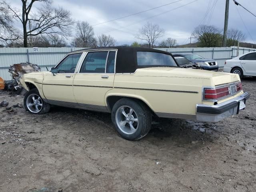
[[150,104],[144,98],[135,95],[111,94],[106,96],[106,105],[108,106],[108,110],[111,112],[114,104],[122,98],[128,98],[140,102],[141,104],[144,104],[146,107],[148,107],[153,115],[156,115]]

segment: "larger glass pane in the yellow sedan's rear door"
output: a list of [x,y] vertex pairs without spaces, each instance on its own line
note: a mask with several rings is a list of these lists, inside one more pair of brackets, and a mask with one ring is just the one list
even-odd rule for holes
[[107,51],[88,52],[80,73],[105,73]]

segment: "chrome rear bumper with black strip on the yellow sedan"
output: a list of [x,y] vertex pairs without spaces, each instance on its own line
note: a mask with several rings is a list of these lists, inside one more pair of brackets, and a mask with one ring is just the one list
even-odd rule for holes
[[216,105],[196,105],[196,120],[203,122],[218,122],[228,116],[238,114],[245,108],[246,100],[250,95],[244,94]]

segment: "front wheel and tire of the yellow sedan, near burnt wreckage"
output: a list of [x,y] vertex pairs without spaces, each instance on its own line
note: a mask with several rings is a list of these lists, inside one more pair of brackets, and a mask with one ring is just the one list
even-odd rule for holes
[[26,92],[23,105],[26,111],[43,114],[50,111],[50,104],[44,102],[37,89]]

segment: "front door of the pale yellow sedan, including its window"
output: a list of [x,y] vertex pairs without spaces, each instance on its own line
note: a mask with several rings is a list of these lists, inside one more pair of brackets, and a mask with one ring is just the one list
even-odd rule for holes
[[68,54],[43,80],[43,93],[50,104],[77,105],[73,93],[76,66],[82,52]]

